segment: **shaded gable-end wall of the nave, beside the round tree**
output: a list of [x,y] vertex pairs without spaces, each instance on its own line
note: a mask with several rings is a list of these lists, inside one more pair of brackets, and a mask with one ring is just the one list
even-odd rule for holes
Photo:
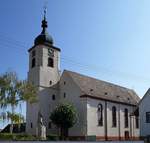
[[[64,82],[66,83],[65,85]],[[66,93],[65,98],[64,92]],[[87,134],[86,100],[81,99],[80,95],[80,88],[74,83],[72,78],[67,73],[64,73],[60,79],[60,102],[72,103],[75,106],[78,113],[77,123],[73,128],[69,129],[70,136],[85,136]]]

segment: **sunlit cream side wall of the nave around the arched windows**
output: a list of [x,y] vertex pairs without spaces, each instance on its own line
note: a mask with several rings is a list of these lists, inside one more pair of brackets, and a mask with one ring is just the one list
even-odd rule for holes
[[[97,117],[97,106],[101,103],[103,105],[103,126],[98,126],[98,117]],[[112,127],[112,107],[115,106],[117,109],[117,126]],[[128,109],[128,128],[124,127],[124,109]],[[119,122],[118,122],[118,112],[120,109],[120,137],[124,138],[124,132],[129,131],[130,136],[139,137],[139,128],[137,129],[135,126],[135,119],[131,120],[132,128],[130,126],[130,113],[133,112],[134,107],[128,106],[124,104],[118,104],[114,102],[107,101],[107,136],[111,137],[119,137]],[[96,135],[96,136],[105,136],[105,101],[91,99],[87,100],[87,134],[88,135]],[[134,117],[134,116],[133,116]]]

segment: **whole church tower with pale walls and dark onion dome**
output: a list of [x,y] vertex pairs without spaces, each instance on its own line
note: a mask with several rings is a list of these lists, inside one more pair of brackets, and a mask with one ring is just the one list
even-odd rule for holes
[[37,87],[38,102],[27,103],[26,132],[37,134],[38,114],[43,116],[47,133],[53,130],[49,119],[50,112],[58,102],[58,81],[60,79],[60,49],[53,45],[47,32],[46,11],[42,20],[42,32],[34,40],[29,52],[28,80]]

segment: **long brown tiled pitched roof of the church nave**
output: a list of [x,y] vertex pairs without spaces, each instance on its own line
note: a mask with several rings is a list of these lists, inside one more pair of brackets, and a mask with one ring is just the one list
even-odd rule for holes
[[140,101],[139,96],[134,90],[121,87],[106,81],[81,75],[76,72],[65,70],[74,82],[80,87],[83,96],[97,99],[121,102],[124,104],[137,105]]

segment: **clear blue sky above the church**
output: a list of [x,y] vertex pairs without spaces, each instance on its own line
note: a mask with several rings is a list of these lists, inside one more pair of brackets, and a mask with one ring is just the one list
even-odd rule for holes
[[[44,3],[0,2],[0,73],[11,69],[27,77],[27,50],[41,32]],[[47,5],[48,31],[62,50],[62,71],[145,94],[150,87],[149,0],[49,0]]]

